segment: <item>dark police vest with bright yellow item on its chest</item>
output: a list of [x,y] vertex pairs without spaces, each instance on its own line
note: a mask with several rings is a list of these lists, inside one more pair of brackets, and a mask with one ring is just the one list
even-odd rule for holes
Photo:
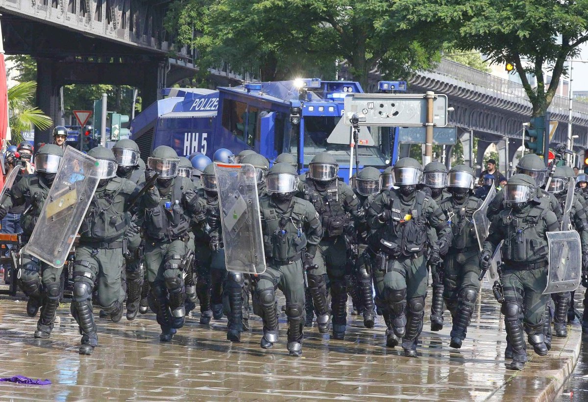
[[423,203],[428,200],[429,196],[419,190],[412,206],[406,206],[392,191],[382,193],[382,201],[392,213],[383,232],[383,237],[393,244],[391,248],[405,256],[423,250],[427,240],[427,217],[423,215]]

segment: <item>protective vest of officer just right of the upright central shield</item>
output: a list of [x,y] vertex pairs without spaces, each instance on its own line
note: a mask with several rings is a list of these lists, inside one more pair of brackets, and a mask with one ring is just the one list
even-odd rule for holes
[[271,206],[269,197],[259,200],[263,246],[266,254],[276,260],[292,259],[306,247],[305,206],[293,200],[285,213]]

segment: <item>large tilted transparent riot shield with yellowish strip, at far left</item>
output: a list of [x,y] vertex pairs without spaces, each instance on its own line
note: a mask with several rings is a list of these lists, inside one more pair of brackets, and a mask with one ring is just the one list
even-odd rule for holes
[[68,146],[24,252],[61,267],[98,186],[91,156]]

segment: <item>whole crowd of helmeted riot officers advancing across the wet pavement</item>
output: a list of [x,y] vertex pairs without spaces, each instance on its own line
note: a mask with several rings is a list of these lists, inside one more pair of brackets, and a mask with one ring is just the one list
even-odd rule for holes
[[[26,206],[21,217],[25,239],[63,155],[59,145],[38,149],[36,172],[22,176],[0,205],[0,217],[14,206]],[[447,172],[439,162],[423,169],[415,159],[402,158],[381,173],[365,167],[350,187],[326,152],[299,176],[297,160],[288,153],[270,167],[253,151],[233,155],[219,149],[215,162],[255,167],[267,269],[250,275],[226,269],[217,177],[207,156],[181,158],[159,146],[145,166],[138,146],[128,139],[88,155],[98,160],[101,177],[75,247],[71,312],[82,335],[80,354],[92,354],[98,345],[92,301],[102,308],[102,317],[115,322],[125,310],[128,320],[152,310],[161,341],[171,341],[199,304],[201,324],[226,315],[227,339],[239,342],[249,329],[252,304],[263,320],[260,346],[270,349],[278,341],[279,289],[286,299],[291,356],[302,354],[303,328],[315,322],[319,333],[332,331],[333,339],[344,339],[350,295],[353,313],[363,314],[365,327],[372,328],[382,316],[386,346],[400,345],[406,357],[416,357],[429,272],[430,329],[441,330],[443,311],[449,310],[449,346],[459,349],[480,292],[480,272],[502,240],[500,302],[509,367],[520,370],[527,360],[523,332],[541,356],[550,349],[552,320],[554,334],[567,335],[573,297],[556,294],[552,301],[542,292],[546,232],[559,230],[568,179],[575,177],[569,167],[557,167],[546,191],[543,161],[536,155],[520,159],[517,174],[490,203],[490,234],[479,243],[472,216],[483,200],[476,197],[475,174],[465,165]],[[129,208],[146,183],[151,184],[140,202]],[[588,270],[587,183],[585,175],[577,178],[570,217],[582,239],[583,273]],[[36,338],[48,338],[54,327],[61,270],[23,256],[18,280],[29,297],[27,313],[36,316],[41,310]],[[588,285],[587,274],[583,284]],[[588,329],[588,317],[583,323]]]

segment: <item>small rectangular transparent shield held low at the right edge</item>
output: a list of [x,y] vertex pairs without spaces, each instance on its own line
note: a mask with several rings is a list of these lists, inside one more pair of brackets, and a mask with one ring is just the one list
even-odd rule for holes
[[543,294],[572,292],[580,284],[582,245],[576,230],[547,232],[549,274]]

